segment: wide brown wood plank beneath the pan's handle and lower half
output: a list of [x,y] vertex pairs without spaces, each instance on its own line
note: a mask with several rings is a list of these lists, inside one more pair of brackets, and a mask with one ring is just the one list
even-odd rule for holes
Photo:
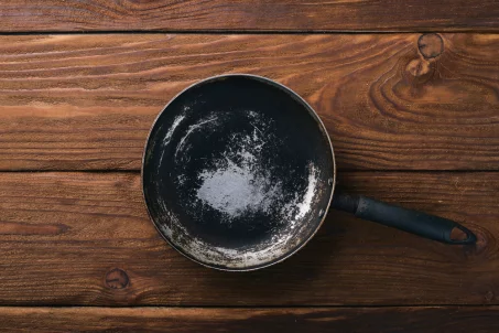
[[453,218],[449,246],[330,212],[282,264],[202,267],[161,239],[135,173],[0,173],[0,304],[499,304],[499,173],[344,172],[346,191]]

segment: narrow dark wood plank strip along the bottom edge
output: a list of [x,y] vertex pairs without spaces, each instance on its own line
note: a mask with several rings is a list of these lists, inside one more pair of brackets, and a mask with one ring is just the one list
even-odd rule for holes
[[497,307],[0,308],[6,332],[435,332],[499,330]]

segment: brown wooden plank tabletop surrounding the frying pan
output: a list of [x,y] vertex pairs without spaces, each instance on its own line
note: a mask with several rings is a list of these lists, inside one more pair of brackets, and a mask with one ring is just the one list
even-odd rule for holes
[[[499,1],[10,0],[0,19],[0,329],[499,331]],[[296,90],[346,190],[476,247],[329,212],[261,271],[178,255],[148,218],[142,149],[175,94],[223,73]]]

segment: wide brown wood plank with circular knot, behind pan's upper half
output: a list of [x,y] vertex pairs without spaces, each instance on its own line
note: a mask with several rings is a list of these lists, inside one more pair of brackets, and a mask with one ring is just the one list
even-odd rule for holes
[[340,169],[498,170],[498,53],[493,34],[0,36],[0,170],[139,170],[162,107],[235,72],[304,96]]

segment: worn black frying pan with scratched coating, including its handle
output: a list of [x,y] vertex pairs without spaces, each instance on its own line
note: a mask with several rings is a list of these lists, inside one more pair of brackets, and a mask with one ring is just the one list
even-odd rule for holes
[[476,241],[449,219],[334,193],[335,179],[333,146],[313,108],[290,88],[247,74],[210,77],[173,98],[152,126],[142,163],[158,230],[216,269],[284,260],[314,236],[329,206],[442,243]]

